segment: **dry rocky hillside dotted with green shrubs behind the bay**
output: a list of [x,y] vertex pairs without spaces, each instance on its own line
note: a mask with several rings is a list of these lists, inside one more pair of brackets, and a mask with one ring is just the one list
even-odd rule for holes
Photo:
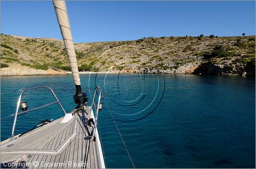
[[[75,48],[79,71],[255,75],[255,36],[149,37],[75,43]],[[61,40],[1,34],[1,74],[13,65],[70,70]]]

